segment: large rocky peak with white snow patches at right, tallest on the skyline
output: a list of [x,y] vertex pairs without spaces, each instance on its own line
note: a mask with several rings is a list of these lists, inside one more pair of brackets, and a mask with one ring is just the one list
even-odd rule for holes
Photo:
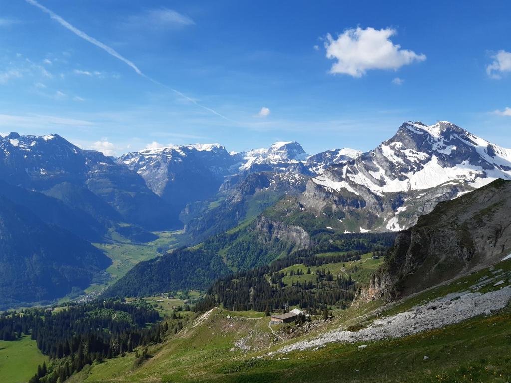
[[360,231],[399,231],[438,202],[511,179],[511,150],[448,122],[404,123],[375,150],[311,178],[300,202],[342,211]]

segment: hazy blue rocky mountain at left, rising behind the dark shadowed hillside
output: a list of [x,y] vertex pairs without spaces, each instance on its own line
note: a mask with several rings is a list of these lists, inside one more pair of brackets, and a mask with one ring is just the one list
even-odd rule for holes
[[[58,134],[0,136],[0,177],[7,182],[39,192],[51,190],[58,198],[88,189],[117,211],[123,221],[150,229],[171,228],[168,206],[147,187],[144,179],[126,166],[94,150],[82,150]],[[63,199],[64,203],[72,198]],[[71,207],[74,207],[71,205]],[[92,206],[90,206],[92,209]],[[115,214],[108,213],[105,220]]]

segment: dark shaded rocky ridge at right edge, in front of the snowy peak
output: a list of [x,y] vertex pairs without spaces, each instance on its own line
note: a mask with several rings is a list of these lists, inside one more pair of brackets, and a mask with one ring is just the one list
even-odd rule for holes
[[491,266],[511,253],[511,181],[439,204],[400,233],[361,297],[387,300]]

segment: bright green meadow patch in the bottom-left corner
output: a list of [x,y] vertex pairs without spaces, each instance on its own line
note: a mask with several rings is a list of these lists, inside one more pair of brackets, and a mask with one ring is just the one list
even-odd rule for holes
[[0,381],[14,383],[28,381],[37,366],[49,358],[37,348],[37,343],[24,335],[17,341],[0,341]]

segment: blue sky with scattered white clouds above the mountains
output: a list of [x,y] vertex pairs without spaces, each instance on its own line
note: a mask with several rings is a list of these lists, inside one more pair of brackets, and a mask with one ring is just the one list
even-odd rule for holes
[[0,0],[0,134],[313,154],[450,121],[511,148],[509,15],[491,0]]

